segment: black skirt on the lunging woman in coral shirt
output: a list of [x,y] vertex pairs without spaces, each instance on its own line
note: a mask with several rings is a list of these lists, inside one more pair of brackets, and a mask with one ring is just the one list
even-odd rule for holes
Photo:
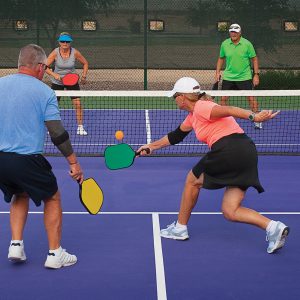
[[204,173],[203,188],[209,190],[236,186],[245,191],[254,187],[262,193],[257,163],[253,141],[246,134],[235,133],[215,142],[192,172],[197,178]]

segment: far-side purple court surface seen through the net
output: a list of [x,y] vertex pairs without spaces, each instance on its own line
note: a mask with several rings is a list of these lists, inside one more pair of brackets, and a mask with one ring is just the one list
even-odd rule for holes
[[[124,118],[124,115],[126,118]],[[156,140],[165,133],[174,130],[184,120],[186,112],[168,111],[167,117],[164,110],[149,110],[148,119],[145,110],[85,110],[86,130],[91,133],[87,136],[76,134],[77,125],[74,120],[73,110],[63,110],[62,118],[71,135],[72,144],[76,153],[95,154],[103,153],[106,146],[115,144],[116,128],[125,132],[124,142],[130,145],[143,145],[148,138]],[[253,139],[258,152],[261,153],[300,153],[300,135],[298,125],[298,111],[282,111],[278,121],[263,124],[263,130],[255,130],[248,120],[238,120],[245,132]],[[136,126],[139,124],[139,126]],[[147,124],[151,130],[147,128]],[[99,131],[99,128],[101,131]],[[176,150],[175,150],[176,149]],[[158,150],[156,154],[179,152],[203,153],[208,148],[199,143],[192,132],[183,143],[173,147]],[[58,153],[58,150],[46,136],[47,153]]]

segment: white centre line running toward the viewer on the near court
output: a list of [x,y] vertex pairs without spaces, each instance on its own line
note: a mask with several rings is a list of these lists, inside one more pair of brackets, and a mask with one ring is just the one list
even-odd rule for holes
[[162,247],[161,247],[159,215],[157,213],[152,214],[152,224],[153,224],[153,241],[154,241],[154,254],[155,254],[157,300],[166,300],[167,292],[166,292],[164,257],[162,253]]

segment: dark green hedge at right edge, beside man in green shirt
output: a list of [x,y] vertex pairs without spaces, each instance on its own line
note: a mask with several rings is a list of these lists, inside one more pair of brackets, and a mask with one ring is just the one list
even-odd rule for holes
[[259,90],[298,90],[300,71],[263,71],[260,74]]

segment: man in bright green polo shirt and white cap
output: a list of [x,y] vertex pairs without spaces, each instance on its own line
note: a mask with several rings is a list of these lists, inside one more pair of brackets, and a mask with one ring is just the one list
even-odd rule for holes
[[[223,73],[222,90],[252,90],[259,84],[258,59],[250,41],[241,36],[241,26],[232,24],[229,27],[230,38],[226,39],[220,48],[217,61],[216,81],[221,78],[221,69],[226,60]],[[252,76],[251,62],[254,74]],[[252,78],[253,77],[253,78]],[[227,105],[228,96],[221,97],[221,105]],[[248,96],[249,105],[254,113],[258,112],[258,102],[255,97]],[[261,129],[261,123],[254,123],[255,129]]]

